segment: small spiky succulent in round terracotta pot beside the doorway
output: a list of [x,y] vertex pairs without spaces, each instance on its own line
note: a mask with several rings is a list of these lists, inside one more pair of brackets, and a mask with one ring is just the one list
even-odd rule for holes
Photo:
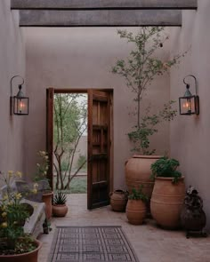
[[68,212],[67,195],[58,191],[53,197],[52,214],[54,217],[65,217]]

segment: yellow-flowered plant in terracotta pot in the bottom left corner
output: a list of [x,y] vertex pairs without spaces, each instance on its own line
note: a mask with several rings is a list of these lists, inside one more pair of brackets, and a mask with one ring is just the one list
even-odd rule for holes
[[[28,206],[22,203],[22,195],[12,189],[12,179],[20,178],[20,172],[8,171],[0,177],[5,192],[0,199],[0,261],[37,262],[41,242],[24,233],[24,223],[29,218]],[[35,188],[36,189],[36,188]]]

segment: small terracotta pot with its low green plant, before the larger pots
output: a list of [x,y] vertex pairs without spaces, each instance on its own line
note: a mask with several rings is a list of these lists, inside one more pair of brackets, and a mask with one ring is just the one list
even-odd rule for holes
[[141,225],[146,217],[146,203],[148,196],[143,194],[142,186],[139,189],[132,189],[132,193],[128,195],[126,205],[126,216],[129,223],[133,225]]

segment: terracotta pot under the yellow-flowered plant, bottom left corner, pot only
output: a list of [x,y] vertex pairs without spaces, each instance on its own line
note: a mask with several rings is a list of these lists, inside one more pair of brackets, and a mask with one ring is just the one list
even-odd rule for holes
[[41,242],[35,240],[36,242],[36,250],[17,254],[17,255],[0,255],[1,262],[37,262],[38,261],[38,250],[41,248]]

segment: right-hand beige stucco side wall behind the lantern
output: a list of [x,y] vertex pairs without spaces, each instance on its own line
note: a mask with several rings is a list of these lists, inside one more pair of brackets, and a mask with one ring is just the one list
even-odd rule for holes
[[[171,155],[178,158],[181,171],[189,185],[198,189],[204,199],[207,226],[210,228],[210,1],[199,0],[198,11],[183,12],[182,28],[172,30],[172,52],[190,51],[178,69],[171,72],[171,98],[182,96],[185,75],[195,75],[198,80],[200,115],[179,115],[171,124]],[[194,91],[194,85],[191,85]]]

